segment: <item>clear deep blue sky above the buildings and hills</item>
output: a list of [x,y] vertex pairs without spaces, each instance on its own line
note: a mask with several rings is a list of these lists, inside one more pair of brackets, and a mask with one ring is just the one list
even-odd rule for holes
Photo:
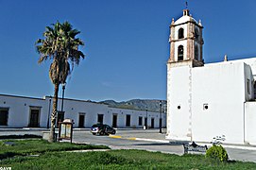
[[[53,95],[50,61],[34,42],[45,26],[69,21],[81,31],[86,59],[67,81],[68,98],[123,101],[166,98],[169,24],[183,0],[0,0],[0,93]],[[256,1],[189,1],[204,26],[206,62],[256,57]],[[61,95],[61,92],[60,92]]]

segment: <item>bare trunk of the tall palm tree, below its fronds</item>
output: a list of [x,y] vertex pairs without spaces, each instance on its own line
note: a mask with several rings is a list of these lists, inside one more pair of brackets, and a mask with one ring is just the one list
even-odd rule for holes
[[59,83],[54,85],[54,97],[53,97],[53,110],[51,114],[51,129],[49,136],[49,143],[54,143],[55,141],[55,124],[57,116],[57,107],[58,107],[58,93],[59,93]]

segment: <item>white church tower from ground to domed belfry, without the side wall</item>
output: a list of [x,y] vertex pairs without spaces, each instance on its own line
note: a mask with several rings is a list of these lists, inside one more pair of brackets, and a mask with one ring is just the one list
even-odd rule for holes
[[203,26],[183,9],[170,25],[167,62],[167,139],[192,140],[192,68],[204,65]]

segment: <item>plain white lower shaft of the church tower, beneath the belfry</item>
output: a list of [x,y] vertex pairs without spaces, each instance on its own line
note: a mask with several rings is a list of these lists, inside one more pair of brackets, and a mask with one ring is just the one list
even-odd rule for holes
[[[189,66],[168,70],[168,132],[167,139],[190,140],[190,73]],[[180,107],[180,109],[178,109]]]

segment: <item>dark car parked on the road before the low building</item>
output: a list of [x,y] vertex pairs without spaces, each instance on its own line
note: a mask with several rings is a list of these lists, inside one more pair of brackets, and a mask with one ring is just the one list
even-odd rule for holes
[[106,124],[94,124],[91,132],[93,135],[115,134],[115,129]]

